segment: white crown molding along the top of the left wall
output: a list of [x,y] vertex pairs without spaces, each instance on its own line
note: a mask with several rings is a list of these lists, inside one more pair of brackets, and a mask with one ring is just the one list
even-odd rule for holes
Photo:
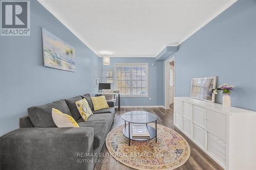
[[82,43],[84,43],[88,48],[90,48],[90,50],[95,53],[97,56],[99,56],[96,53],[96,50],[94,50],[94,48],[89,44],[88,41],[86,41],[84,38],[82,38],[82,36],[78,33],[78,31],[76,31],[75,28],[73,28],[72,26],[70,26],[70,24],[62,17],[60,17],[56,12],[54,12],[54,10],[47,4],[45,3],[43,0],[37,0],[43,7],[45,7],[55,18],[57,18],[67,29],[69,29],[69,31],[71,31]]

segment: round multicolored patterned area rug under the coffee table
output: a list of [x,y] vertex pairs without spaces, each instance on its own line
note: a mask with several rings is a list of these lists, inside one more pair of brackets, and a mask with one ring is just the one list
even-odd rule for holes
[[[148,124],[155,128],[155,124]],[[131,140],[123,133],[124,125],[113,129],[106,137],[106,148],[110,154],[126,166],[135,169],[174,169],[184,164],[190,148],[187,141],[174,130],[157,125],[155,138],[148,141]]]

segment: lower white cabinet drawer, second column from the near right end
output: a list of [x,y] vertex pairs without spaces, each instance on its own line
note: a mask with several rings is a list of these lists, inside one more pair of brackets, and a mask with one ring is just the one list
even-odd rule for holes
[[193,124],[193,139],[205,149],[205,131],[203,128]]

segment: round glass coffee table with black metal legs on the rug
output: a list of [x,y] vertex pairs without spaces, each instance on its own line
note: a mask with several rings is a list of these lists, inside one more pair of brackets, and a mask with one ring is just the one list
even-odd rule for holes
[[[138,140],[138,141],[145,141],[151,140],[154,137],[156,138],[157,142],[157,115],[146,112],[146,111],[130,111],[122,114],[122,119],[124,120],[124,128],[123,128],[123,135],[129,138],[129,146],[131,145],[131,140]],[[126,128],[126,122],[128,122],[128,128]],[[151,126],[147,126],[148,123],[156,123],[156,129]],[[133,138],[132,135],[132,124],[146,124],[148,133],[150,134],[149,138]]]

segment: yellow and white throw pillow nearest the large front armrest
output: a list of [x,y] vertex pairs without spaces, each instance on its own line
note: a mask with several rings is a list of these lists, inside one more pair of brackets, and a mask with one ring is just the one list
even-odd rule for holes
[[52,108],[52,118],[53,122],[58,128],[78,128],[78,124],[68,114],[64,114],[61,111]]

